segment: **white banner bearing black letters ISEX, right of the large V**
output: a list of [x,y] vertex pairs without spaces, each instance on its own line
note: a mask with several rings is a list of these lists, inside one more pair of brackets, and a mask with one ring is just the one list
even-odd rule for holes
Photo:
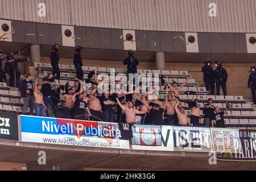
[[210,152],[212,139],[207,127],[173,126],[174,151]]

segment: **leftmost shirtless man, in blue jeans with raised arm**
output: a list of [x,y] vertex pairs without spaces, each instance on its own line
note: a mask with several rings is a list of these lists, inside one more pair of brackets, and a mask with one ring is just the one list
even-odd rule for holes
[[38,85],[39,78],[36,78],[34,85],[34,97],[35,97],[35,111],[36,116],[43,117],[44,110],[47,109],[46,105],[44,105],[43,94],[41,93],[42,85]]

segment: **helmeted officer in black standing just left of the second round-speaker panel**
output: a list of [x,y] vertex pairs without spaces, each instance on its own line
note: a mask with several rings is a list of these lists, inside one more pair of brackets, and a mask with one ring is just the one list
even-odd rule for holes
[[55,76],[56,74],[56,78],[58,80],[60,80],[60,68],[59,68],[59,60],[60,60],[60,56],[59,56],[59,49],[60,46],[59,44],[54,44],[54,46],[52,47],[52,51],[51,51],[51,64],[52,64],[52,75]]

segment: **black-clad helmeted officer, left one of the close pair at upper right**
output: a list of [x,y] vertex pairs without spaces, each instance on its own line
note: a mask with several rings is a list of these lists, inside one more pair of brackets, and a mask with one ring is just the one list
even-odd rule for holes
[[214,95],[214,71],[211,65],[212,60],[206,59],[202,72],[204,73],[204,83],[207,91],[210,91],[210,94]]

